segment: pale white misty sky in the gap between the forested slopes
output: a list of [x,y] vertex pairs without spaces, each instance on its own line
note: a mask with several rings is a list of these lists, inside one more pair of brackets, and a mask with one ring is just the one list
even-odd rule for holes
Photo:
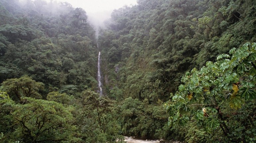
[[[50,2],[50,0],[46,0]],[[119,9],[125,5],[132,6],[137,4],[137,0],[54,0],[58,2],[68,2],[74,8],[83,8],[88,20],[94,25],[102,25],[103,21],[110,18],[114,9]]]

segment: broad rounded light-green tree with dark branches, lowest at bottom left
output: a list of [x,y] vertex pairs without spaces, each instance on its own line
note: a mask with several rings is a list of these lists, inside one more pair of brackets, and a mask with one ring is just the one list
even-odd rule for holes
[[72,138],[75,130],[71,107],[42,99],[22,98],[26,102],[18,106],[11,115],[16,130],[12,133],[16,139],[24,142],[60,142]]

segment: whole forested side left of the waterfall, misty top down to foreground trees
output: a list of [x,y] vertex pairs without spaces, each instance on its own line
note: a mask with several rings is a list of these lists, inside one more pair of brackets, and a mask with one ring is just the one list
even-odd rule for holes
[[83,9],[0,0],[0,142],[118,138],[114,101],[94,92],[97,56]]

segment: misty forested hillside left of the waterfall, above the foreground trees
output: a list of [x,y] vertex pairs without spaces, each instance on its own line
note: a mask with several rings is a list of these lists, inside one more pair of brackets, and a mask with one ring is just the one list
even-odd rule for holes
[[4,0],[0,8],[0,82],[28,75],[46,92],[66,92],[67,85],[79,89],[68,94],[96,88],[95,31],[83,9],[42,0]]

